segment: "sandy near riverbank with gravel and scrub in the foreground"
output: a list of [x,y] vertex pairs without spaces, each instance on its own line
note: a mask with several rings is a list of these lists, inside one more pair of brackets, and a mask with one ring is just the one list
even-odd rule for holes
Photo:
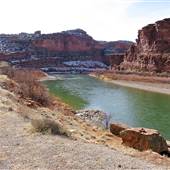
[[[7,77],[0,77],[0,80],[3,80],[0,84],[0,125],[3,129],[0,132],[3,148],[0,169],[56,169],[60,165],[63,169],[91,169],[92,166],[94,169],[166,169],[170,166],[169,159],[164,156],[126,147],[109,131],[74,114],[64,114],[60,107],[65,108],[65,105],[53,109],[28,106],[24,99],[21,101],[19,96],[4,89],[11,80]],[[53,130],[57,133],[53,134]],[[75,146],[80,147],[75,150]],[[82,152],[86,153],[85,158],[81,158]],[[108,160],[106,155],[112,155],[112,159]],[[87,160],[85,165],[82,160]]]

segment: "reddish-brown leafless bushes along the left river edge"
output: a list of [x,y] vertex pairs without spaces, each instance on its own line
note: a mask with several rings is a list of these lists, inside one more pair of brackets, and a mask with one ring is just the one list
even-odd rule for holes
[[42,106],[51,105],[52,98],[47,88],[29,70],[8,68],[4,70],[3,74],[6,74],[10,79],[18,83],[19,86],[14,89],[14,92],[22,98],[29,98]]

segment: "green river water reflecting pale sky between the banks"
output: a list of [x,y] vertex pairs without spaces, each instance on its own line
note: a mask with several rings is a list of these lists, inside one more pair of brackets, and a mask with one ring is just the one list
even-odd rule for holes
[[56,75],[45,81],[50,92],[75,109],[99,109],[111,121],[154,128],[170,139],[170,95],[103,82],[87,75]]

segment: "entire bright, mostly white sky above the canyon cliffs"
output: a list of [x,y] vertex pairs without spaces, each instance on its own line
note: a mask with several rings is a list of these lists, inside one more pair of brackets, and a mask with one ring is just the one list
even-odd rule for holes
[[82,28],[97,40],[135,40],[137,31],[170,18],[170,0],[0,0],[0,33]]

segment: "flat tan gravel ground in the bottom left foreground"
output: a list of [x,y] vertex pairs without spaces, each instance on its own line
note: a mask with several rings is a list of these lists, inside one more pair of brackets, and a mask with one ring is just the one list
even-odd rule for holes
[[0,170],[166,169],[102,145],[31,131],[13,112],[0,111]]

